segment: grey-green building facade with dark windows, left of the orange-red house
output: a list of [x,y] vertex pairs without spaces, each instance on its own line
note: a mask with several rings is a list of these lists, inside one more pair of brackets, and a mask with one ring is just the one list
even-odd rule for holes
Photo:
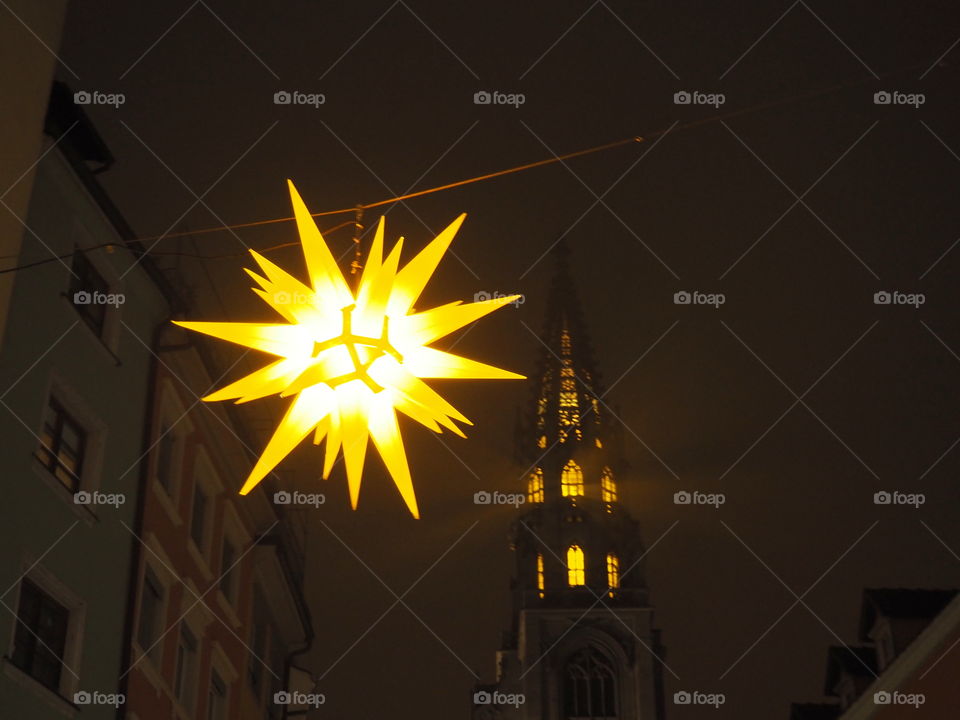
[[123,672],[152,393],[138,338],[170,305],[94,178],[105,146],[57,87],[12,263],[43,264],[8,276],[0,347],[0,714],[105,720]]

